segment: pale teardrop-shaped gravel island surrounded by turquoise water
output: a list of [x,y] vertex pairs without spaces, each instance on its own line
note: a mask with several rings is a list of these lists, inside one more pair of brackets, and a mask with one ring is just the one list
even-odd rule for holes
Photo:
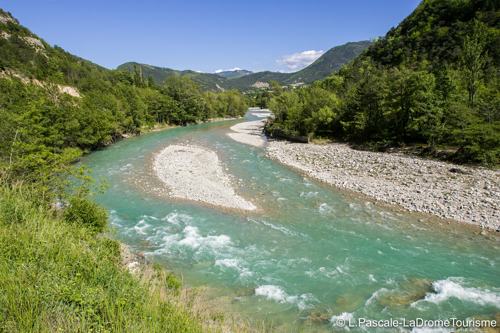
[[211,150],[195,145],[168,146],[155,156],[153,170],[169,187],[170,197],[241,210],[256,208],[234,192]]

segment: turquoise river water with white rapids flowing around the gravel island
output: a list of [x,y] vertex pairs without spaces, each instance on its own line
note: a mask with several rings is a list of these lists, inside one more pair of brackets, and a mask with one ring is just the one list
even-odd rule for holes
[[[226,309],[272,320],[284,331],[337,330],[339,318],[498,317],[495,237],[303,178],[262,148],[225,135],[240,121],[152,132],[85,155],[81,163],[110,185],[99,200],[118,238],[184,282],[206,283],[208,297]],[[214,150],[234,175],[236,192],[259,210],[151,193],[160,184],[153,154],[170,144]]]

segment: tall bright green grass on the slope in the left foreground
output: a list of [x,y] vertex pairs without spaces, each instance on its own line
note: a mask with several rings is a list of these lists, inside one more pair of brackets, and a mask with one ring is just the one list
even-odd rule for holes
[[[0,332],[255,332],[164,272],[119,267],[119,242],[0,188]],[[172,288],[173,286],[173,288]],[[225,324],[224,324],[225,322]]]

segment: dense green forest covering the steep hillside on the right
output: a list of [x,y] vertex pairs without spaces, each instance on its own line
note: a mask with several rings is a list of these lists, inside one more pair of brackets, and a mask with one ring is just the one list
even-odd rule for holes
[[275,85],[270,129],[368,144],[452,148],[500,162],[500,5],[424,0],[348,65],[306,89]]

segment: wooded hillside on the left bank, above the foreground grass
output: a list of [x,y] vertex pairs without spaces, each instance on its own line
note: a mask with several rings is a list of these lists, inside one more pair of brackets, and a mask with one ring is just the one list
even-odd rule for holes
[[[242,116],[247,108],[237,91],[201,94],[188,76],[157,85],[138,66],[108,70],[51,47],[9,13],[0,16],[0,165],[9,179],[50,182],[52,167],[122,135]],[[82,97],[63,93],[66,86]]]

